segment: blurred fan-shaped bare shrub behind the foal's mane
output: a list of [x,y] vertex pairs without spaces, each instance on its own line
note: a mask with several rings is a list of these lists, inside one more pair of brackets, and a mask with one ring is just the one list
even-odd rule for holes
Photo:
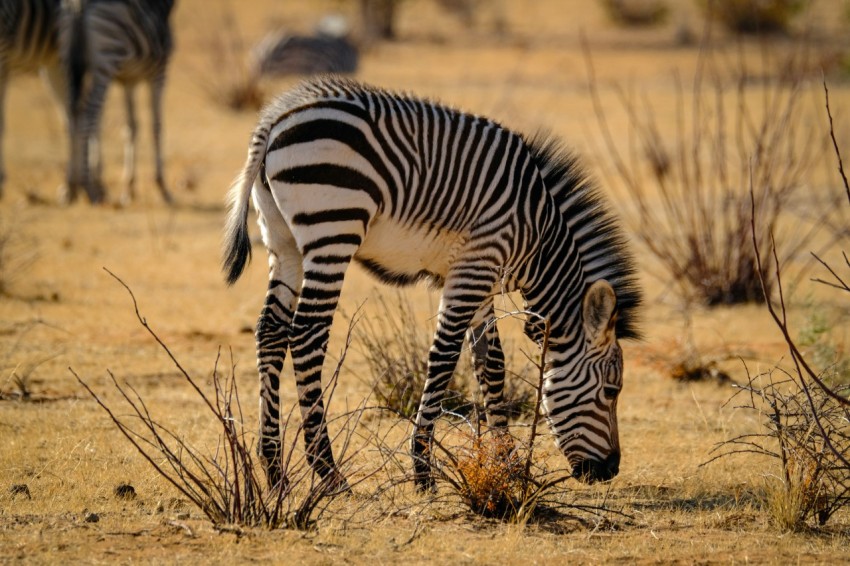
[[[629,122],[624,156],[608,126],[587,48],[586,53],[597,120],[626,205],[634,209],[625,216],[637,239],[689,302],[763,302],[771,292],[773,258],[761,268],[755,261],[748,187],[759,218],[778,235],[781,263],[807,249],[822,217],[830,214],[792,214],[802,208],[806,175],[826,143],[805,119],[799,75],[763,78],[762,94],[754,100],[747,96],[751,76],[743,61],[724,69],[701,55],[689,94],[676,77],[675,133],[662,132],[646,97],[617,87]],[[766,247],[767,233],[758,237]]]

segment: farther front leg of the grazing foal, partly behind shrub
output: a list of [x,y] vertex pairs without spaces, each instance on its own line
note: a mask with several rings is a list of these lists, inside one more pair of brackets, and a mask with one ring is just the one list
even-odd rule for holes
[[493,306],[488,306],[485,322],[467,333],[472,352],[472,367],[481,397],[484,399],[484,412],[487,425],[491,428],[508,426],[505,410],[505,354],[496,328]]

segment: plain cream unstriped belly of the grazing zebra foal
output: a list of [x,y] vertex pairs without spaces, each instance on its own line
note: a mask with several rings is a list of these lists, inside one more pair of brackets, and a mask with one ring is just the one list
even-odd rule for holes
[[354,259],[373,275],[392,285],[428,280],[442,286],[466,234],[406,226],[376,218]]

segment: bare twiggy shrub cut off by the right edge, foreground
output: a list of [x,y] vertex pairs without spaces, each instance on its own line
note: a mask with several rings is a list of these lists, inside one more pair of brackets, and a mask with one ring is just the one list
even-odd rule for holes
[[[830,134],[835,140],[829,91],[824,83]],[[850,184],[844,174],[841,152],[834,142],[844,189],[850,202]],[[755,196],[752,204],[752,240],[755,260],[763,265],[757,237],[758,217]],[[769,230],[768,230],[769,232]],[[751,378],[741,386],[745,399],[742,408],[760,415],[763,432],[747,433],[718,445],[718,457],[755,453],[776,459],[780,464],[779,481],[768,485],[765,498],[774,523],[782,529],[801,530],[814,519],[824,525],[839,509],[850,504],[850,386],[830,386],[829,375],[816,370],[792,338],[783,294],[781,269],[776,246],[771,239],[778,305],[767,301],[767,308],[781,331],[793,363],[790,370],[775,368],[766,375]],[[844,255],[846,267],[850,261]],[[836,270],[821,261],[834,280],[819,280],[844,292],[850,292]],[[765,286],[765,293],[767,287]],[[775,379],[774,374],[783,376]]]

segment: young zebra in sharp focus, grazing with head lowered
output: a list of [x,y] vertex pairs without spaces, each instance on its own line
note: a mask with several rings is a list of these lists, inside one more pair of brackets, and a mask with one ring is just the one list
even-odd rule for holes
[[[514,290],[549,321],[544,409],[573,475],[617,474],[618,338],[637,337],[640,292],[622,233],[557,142],[528,141],[486,118],[322,78],[269,104],[254,130],[230,190],[223,268],[231,284],[251,252],[251,193],[269,251],[256,339],[258,450],[272,485],[286,479],[278,386],[289,348],[308,459],[332,485],[347,486],[328,439],[321,369],[352,260],[388,283],[443,287],[411,440],[419,488],[432,485],[434,421],[465,334],[488,423],[507,423],[493,298]],[[530,316],[525,331],[540,343],[543,328]]]

